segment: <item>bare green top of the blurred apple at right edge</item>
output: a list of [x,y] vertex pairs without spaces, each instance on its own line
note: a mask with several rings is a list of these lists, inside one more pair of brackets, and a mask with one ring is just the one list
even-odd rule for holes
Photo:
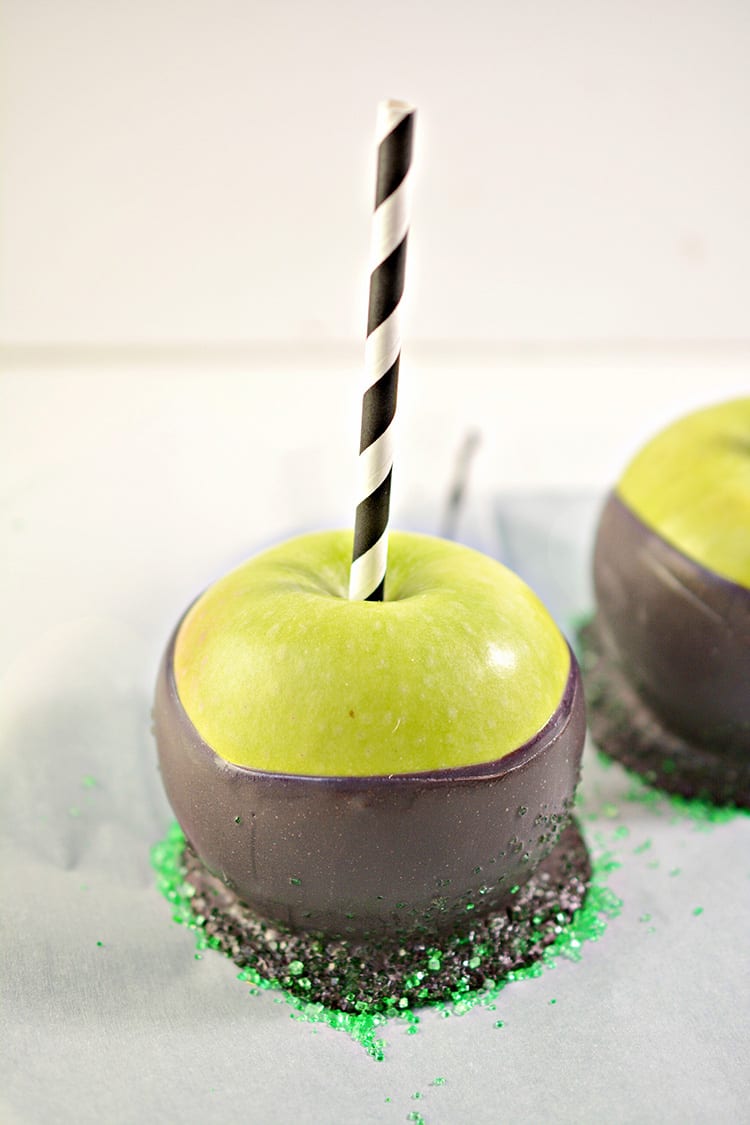
[[750,398],[662,430],[627,466],[616,492],[672,547],[750,586]]

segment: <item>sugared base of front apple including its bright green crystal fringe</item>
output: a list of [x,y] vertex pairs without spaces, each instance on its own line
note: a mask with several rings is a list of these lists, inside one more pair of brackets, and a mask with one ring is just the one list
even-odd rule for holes
[[[617,864],[611,856],[596,861],[586,890],[585,878],[581,882],[580,875],[573,878],[569,870],[570,857],[577,855],[580,866],[582,854],[588,874],[585,845],[572,826],[566,834],[566,871],[572,882],[560,894],[575,908],[563,909],[550,901],[549,879],[534,906],[536,900],[531,899],[528,890],[533,888],[532,876],[501,918],[479,919],[468,935],[442,939],[440,948],[415,945],[410,951],[394,952],[390,960],[383,961],[380,974],[370,972],[369,993],[362,991],[369,966],[353,956],[346,943],[326,944],[325,938],[315,935],[266,932],[257,921],[252,928],[245,921],[243,929],[237,925],[237,915],[246,908],[236,900],[231,915],[211,910],[202,883],[199,892],[188,881],[195,876],[199,861],[186,845],[179,825],[173,824],[165,839],[155,845],[152,864],[159,889],[172,907],[172,919],[193,932],[199,955],[206,948],[226,953],[241,965],[238,979],[252,986],[253,992],[282,992],[292,1009],[290,1018],[346,1032],[371,1058],[382,1060],[385,1043],[379,1033],[386,1023],[400,1022],[407,1034],[415,1034],[421,1008],[430,1007],[444,1018],[463,1016],[476,1007],[494,1010],[507,984],[537,978],[561,957],[579,961],[585,943],[602,937],[607,919],[616,917],[622,907],[606,885],[607,875]],[[200,871],[204,882],[214,881],[225,897],[231,894],[202,866]],[[523,940],[519,933],[525,933]],[[238,934],[244,940],[242,946]],[[501,1022],[495,1026],[501,1026]],[[434,1084],[442,1081],[436,1079]]]

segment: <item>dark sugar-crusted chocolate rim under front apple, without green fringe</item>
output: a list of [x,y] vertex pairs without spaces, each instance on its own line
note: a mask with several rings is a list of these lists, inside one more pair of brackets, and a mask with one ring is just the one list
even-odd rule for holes
[[570,824],[506,909],[477,918],[460,936],[389,945],[284,932],[260,921],[189,844],[182,864],[195,891],[191,911],[213,946],[292,996],[352,1014],[458,1000],[499,983],[558,939],[582,907],[591,875],[586,844]]

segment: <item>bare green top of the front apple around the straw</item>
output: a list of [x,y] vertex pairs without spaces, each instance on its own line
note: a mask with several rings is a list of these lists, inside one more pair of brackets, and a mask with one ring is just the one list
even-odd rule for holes
[[351,532],[301,536],[190,609],[175,683],[216,754],[277,773],[414,773],[501,758],[544,727],[570,651],[516,575],[391,532],[386,601],[354,602],[351,555]]

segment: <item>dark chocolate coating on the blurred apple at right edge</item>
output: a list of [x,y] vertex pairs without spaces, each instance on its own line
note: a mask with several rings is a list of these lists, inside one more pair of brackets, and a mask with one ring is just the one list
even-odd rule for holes
[[[750,590],[671,547],[612,494],[594,549],[597,631],[665,726],[750,753]],[[606,749],[606,747],[605,747]]]

